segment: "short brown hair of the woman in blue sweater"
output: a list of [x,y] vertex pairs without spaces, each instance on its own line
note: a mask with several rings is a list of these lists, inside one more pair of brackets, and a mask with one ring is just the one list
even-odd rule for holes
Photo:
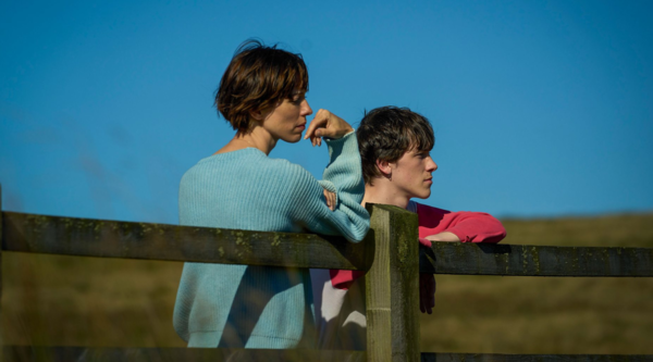
[[250,111],[274,107],[308,91],[308,71],[301,54],[268,47],[256,39],[243,42],[224,71],[215,107],[238,133],[250,127]]

